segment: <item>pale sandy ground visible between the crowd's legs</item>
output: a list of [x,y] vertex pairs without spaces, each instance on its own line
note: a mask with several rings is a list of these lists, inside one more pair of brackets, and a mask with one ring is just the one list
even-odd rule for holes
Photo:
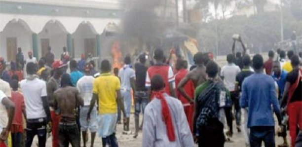
[[[130,130],[134,132],[134,116],[133,116],[133,114],[131,115],[131,120],[130,120]],[[120,125],[117,125],[117,132],[116,132],[116,137],[118,139],[119,147],[141,147],[142,146],[142,133],[141,132],[137,139],[134,139],[133,135],[122,135],[121,132],[122,132],[122,125],[120,124]],[[90,137],[90,135],[89,135],[89,137]],[[226,143],[225,147],[245,147],[244,138],[241,133],[237,133],[235,131],[231,140],[233,142]],[[35,139],[35,141],[37,142],[37,139]],[[276,145],[281,144],[281,143],[282,143],[281,138],[276,137]],[[51,147],[51,138],[49,138],[47,140],[46,144],[47,144],[46,147]],[[87,147],[90,147],[90,138],[89,138],[87,145],[88,145]],[[33,146],[33,147],[37,147],[37,146]],[[82,147],[82,145],[81,145],[81,147]],[[100,138],[96,137],[94,147],[102,147],[102,140]]]

